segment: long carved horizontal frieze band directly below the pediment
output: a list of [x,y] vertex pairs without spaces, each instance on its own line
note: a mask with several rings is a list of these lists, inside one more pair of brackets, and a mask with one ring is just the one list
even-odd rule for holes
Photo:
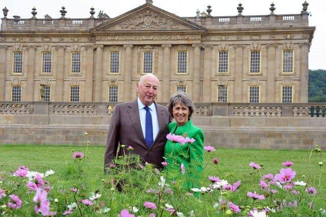
[[141,35],[141,36],[97,36],[96,41],[170,41],[200,40],[200,35]]

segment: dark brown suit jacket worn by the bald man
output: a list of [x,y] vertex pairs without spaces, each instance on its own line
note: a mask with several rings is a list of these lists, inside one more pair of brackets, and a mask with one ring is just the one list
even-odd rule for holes
[[[139,154],[142,159],[148,163],[161,167],[163,162],[164,146],[167,141],[168,124],[172,118],[168,109],[155,103],[158,118],[159,131],[152,146],[148,149],[143,136],[141,121],[139,117],[137,100],[116,105],[112,114],[106,149],[104,153],[104,169],[116,157],[118,144],[124,144],[126,147],[131,145],[134,149],[131,153]],[[128,150],[125,148],[125,153]],[[123,155],[120,149],[118,156]]]

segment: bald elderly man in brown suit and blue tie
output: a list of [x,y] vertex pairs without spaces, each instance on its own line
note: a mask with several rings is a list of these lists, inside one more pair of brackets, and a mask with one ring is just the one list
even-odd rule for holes
[[[162,166],[160,163],[164,161],[164,145],[172,117],[166,107],[154,102],[158,87],[155,75],[144,75],[136,85],[138,99],[116,106],[108,128],[104,169],[116,157],[119,143],[131,145],[132,153],[139,154],[145,162]],[[121,155],[123,150],[120,149],[118,156]]]

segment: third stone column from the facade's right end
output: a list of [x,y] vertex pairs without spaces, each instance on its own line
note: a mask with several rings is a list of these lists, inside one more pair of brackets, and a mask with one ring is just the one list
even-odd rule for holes
[[244,44],[234,45],[235,48],[235,73],[234,73],[234,102],[242,103],[242,78],[243,78],[243,48]]

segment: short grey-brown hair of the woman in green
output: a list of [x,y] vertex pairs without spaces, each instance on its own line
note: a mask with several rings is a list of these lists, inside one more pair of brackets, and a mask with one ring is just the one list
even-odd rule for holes
[[186,92],[183,91],[178,91],[176,94],[172,95],[170,98],[170,103],[168,105],[168,110],[172,116],[173,116],[173,106],[175,106],[175,104],[177,103],[180,103],[181,105],[184,105],[189,108],[188,119],[190,119],[190,117],[195,111],[195,105],[191,97]]

